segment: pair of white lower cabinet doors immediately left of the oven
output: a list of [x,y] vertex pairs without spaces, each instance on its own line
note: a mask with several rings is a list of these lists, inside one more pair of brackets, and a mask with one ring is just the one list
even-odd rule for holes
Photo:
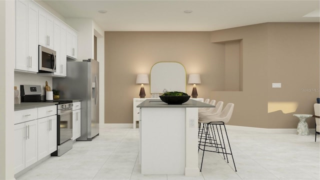
[[56,115],[38,119],[38,160],[56,150]]

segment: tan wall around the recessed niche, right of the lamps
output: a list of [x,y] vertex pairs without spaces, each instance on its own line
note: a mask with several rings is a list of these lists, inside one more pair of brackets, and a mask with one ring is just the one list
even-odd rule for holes
[[[263,23],[211,35],[212,42],[243,42],[243,91],[212,91],[210,96],[235,103],[229,124],[296,128],[292,114],[313,113],[319,96],[319,23]],[[272,82],[282,87],[271,88]],[[307,122],[314,128],[313,118]]]

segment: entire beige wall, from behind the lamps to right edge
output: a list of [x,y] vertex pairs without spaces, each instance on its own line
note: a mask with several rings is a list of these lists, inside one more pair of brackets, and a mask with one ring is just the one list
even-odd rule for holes
[[[233,40],[240,43],[221,43]],[[225,53],[238,49],[231,56],[240,60],[236,86],[242,91],[221,91],[229,75],[224,74]],[[319,24],[262,23],[212,32],[106,31],[105,123],[132,123],[132,98],[140,88],[136,74],[149,74],[159,61],[177,61],[187,74],[200,73],[198,97],[235,103],[231,125],[296,128],[298,120],[292,114],[313,113],[319,96]],[[299,67],[310,70],[305,73]],[[281,82],[282,88],[270,88],[271,82]],[[144,88],[150,97],[149,84]],[[186,89],[191,94],[192,85]],[[296,111],[288,112],[294,107],[288,101],[298,104]],[[268,107],[285,113],[268,113]],[[308,122],[314,128],[314,119]]]

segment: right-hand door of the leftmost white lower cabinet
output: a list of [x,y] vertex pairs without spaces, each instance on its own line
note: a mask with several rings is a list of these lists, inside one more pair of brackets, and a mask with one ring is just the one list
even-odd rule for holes
[[37,120],[25,122],[25,167],[37,161]]

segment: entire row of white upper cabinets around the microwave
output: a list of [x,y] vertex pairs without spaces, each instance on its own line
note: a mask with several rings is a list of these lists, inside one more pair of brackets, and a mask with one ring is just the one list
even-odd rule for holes
[[56,72],[66,76],[66,56],[77,58],[77,32],[32,0],[15,3],[15,70],[38,72],[38,45],[56,51]]

